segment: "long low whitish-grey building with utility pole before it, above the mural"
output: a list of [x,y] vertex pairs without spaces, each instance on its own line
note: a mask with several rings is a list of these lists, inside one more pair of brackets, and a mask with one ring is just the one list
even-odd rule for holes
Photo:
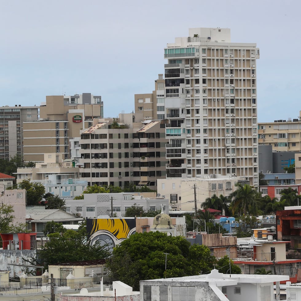
[[126,210],[136,204],[144,211],[160,210],[168,214],[168,200],[159,197],[143,197],[143,193],[137,196],[133,193],[84,193],[83,200],[66,199],[66,212],[77,216],[94,218],[109,217],[111,215],[111,201],[113,202],[113,213],[122,217]]

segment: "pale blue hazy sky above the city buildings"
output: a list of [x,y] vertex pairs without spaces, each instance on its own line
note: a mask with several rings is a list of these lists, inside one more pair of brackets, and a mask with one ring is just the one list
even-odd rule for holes
[[[189,7],[188,4],[189,3]],[[188,28],[231,29],[257,43],[258,121],[298,118],[301,78],[295,1],[0,0],[0,106],[46,95],[101,95],[105,117],[134,109],[164,73],[164,50]]]

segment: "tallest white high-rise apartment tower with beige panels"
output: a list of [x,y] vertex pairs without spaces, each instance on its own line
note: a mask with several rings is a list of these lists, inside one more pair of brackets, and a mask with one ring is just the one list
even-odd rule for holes
[[258,185],[255,43],[192,28],[167,44],[167,177],[240,176]]

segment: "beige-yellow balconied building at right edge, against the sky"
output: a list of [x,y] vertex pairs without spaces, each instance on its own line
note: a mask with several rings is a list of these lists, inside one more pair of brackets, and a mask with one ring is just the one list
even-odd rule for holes
[[272,145],[277,152],[301,151],[300,118],[258,123],[258,144]]

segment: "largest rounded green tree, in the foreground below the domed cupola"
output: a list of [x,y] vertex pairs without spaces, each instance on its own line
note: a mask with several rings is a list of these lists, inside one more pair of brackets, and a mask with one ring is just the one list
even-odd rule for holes
[[190,246],[181,236],[145,232],[131,235],[114,248],[107,266],[113,278],[139,290],[141,279],[202,274],[209,272],[214,263],[215,257],[210,256],[206,246]]

